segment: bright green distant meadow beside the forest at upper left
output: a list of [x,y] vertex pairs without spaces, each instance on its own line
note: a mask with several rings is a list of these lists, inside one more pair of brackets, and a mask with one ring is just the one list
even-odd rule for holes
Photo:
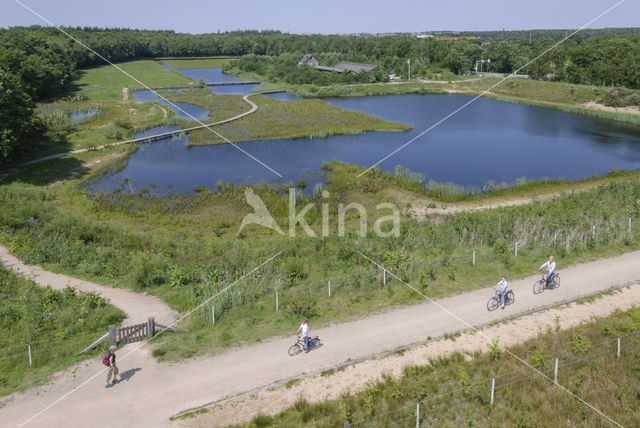
[[[181,87],[192,83],[188,77],[169,70],[154,60],[129,61],[117,66],[151,88]],[[78,70],[70,92],[74,95],[85,95],[95,101],[121,101],[124,87],[132,91],[141,85],[117,68],[103,65]]]

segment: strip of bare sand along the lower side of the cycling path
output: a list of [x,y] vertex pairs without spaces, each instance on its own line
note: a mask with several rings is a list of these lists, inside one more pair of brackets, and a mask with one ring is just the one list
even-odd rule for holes
[[497,338],[503,346],[513,346],[535,338],[547,327],[562,329],[588,322],[595,317],[605,317],[616,310],[627,310],[640,304],[640,286],[627,287],[612,295],[605,295],[592,303],[571,303],[559,308],[526,315],[512,321],[482,329],[482,334],[465,333],[455,341],[439,340],[407,350],[403,355],[365,361],[337,371],[330,376],[314,376],[303,379],[290,388],[281,386],[265,390],[228,404],[214,407],[210,412],[195,418],[181,419],[173,423],[177,427],[211,427],[238,424],[257,414],[275,415],[296,400],[315,403],[339,398],[346,392],[364,389],[369,382],[380,380],[383,374],[400,376],[404,367],[428,364],[429,360],[446,357],[455,352],[472,354],[486,352],[487,337]]

